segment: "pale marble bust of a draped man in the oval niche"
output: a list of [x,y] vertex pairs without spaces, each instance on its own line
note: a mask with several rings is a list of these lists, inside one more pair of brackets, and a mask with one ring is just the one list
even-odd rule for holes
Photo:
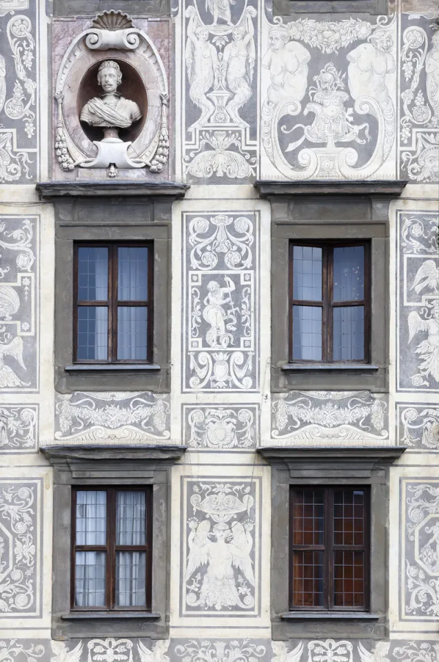
[[117,92],[121,82],[119,64],[114,60],[105,60],[98,70],[98,84],[103,94],[90,99],[81,110],[81,121],[90,126],[103,127],[104,141],[119,141],[117,130],[128,128],[142,117],[135,101],[125,99]]

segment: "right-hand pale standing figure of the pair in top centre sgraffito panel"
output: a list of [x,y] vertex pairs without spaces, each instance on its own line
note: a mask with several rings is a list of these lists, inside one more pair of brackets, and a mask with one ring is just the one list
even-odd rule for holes
[[252,17],[256,9],[245,10],[240,23],[232,30],[232,42],[224,49],[225,83],[227,90],[232,92],[232,99],[227,103],[226,110],[232,122],[237,126],[249,126],[238,110],[252,96],[252,82],[256,50],[254,46],[254,26]]

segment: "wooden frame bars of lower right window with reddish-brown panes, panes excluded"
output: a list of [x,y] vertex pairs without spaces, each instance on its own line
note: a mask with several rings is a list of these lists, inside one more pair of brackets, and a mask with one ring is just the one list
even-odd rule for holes
[[[297,545],[294,544],[294,499],[297,491],[320,490],[324,499],[324,541],[323,545]],[[334,490],[363,490],[365,492],[365,529],[364,545],[334,545]],[[368,485],[290,485],[289,486],[289,610],[292,612],[369,612],[370,611],[370,488]],[[293,552],[323,551],[323,606],[297,606],[293,603],[294,564]],[[334,605],[334,552],[363,552],[364,554],[364,596],[362,607]]]

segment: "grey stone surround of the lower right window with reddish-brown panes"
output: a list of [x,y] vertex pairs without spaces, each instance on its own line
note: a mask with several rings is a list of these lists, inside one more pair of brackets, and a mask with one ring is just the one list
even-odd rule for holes
[[[402,446],[365,448],[259,448],[272,465],[271,619],[272,639],[336,637],[385,639],[389,636],[389,465],[405,451]],[[370,486],[370,611],[289,611],[289,488],[290,485]]]

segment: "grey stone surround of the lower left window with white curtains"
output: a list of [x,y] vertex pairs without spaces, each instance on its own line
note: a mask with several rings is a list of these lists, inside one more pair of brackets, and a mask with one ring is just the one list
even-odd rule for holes
[[[47,446],[54,468],[52,639],[88,636],[169,636],[171,467],[185,446],[85,448]],[[72,485],[152,485],[151,612],[70,611]]]

